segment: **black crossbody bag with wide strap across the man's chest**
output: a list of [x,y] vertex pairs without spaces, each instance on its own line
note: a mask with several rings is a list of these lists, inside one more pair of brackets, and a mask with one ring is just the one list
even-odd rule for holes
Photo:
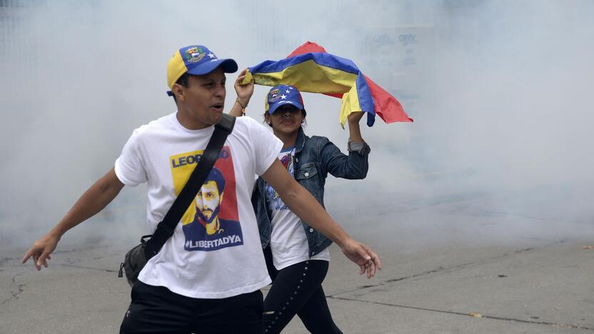
[[124,257],[124,262],[120,265],[118,277],[122,277],[122,268],[126,272],[126,280],[130,286],[134,285],[139,278],[139,273],[146,265],[146,262],[152,258],[156,253],[161,251],[168,238],[173,236],[173,231],[177,226],[178,221],[190,206],[196,193],[201,188],[206,176],[211,172],[218,155],[221,153],[221,148],[235,125],[235,117],[223,113],[223,117],[218,124],[215,125],[211,140],[206,145],[200,161],[194,167],[190,178],[183,186],[181,192],[173,201],[171,208],[167,211],[165,218],[161,223],[158,223],[155,232],[152,235],[142,236],[140,244],[132,248]]

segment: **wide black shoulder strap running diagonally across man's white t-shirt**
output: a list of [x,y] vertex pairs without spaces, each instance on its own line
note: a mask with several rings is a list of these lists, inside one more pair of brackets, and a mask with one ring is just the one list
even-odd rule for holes
[[227,113],[222,114],[221,121],[215,125],[211,140],[208,141],[206,150],[204,150],[196,167],[194,167],[188,182],[183,186],[176,200],[173,201],[163,221],[158,223],[151,239],[146,242],[145,252],[147,258],[151,258],[161,251],[167,239],[173,236],[177,223],[181,220],[183,213],[188,210],[193,198],[196,197],[196,193],[198,193],[208,173],[211,172],[218,155],[221,153],[221,148],[223,148],[227,136],[233,131],[235,120],[235,117]]

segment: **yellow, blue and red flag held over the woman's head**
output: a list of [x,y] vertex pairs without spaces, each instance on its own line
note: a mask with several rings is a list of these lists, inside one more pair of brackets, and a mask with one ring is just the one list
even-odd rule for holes
[[313,42],[299,46],[286,59],[249,67],[243,83],[252,78],[263,86],[285,84],[296,86],[299,91],[342,98],[342,126],[348,114],[355,111],[368,113],[368,126],[373,126],[376,114],[386,123],[413,121],[401,103],[365,76],[353,61],[328,54]]

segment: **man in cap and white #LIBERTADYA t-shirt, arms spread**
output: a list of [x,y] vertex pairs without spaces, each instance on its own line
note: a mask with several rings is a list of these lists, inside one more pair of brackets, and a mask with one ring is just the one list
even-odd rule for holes
[[[220,121],[225,73],[235,71],[233,59],[218,59],[205,46],[178,49],[167,69],[168,93],[177,111],[136,128],[114,168],[34,243],[23,263],[32,257],[37,270],[47,267],[61,236],[101,211],[124,185],[147,183],[147,223],[154,231],[196,166],[213,125]],[[245,104],[237,99],[233,108]],[[216,218],[226,226],[236,225],[221,231],[220,238],[215,233],[203,233],[200,238],[200,217],[207,215],[197,211],[204,203],[189,206],[173,236],[141,270],[121,333],[263,332],[260,288],[271,280],[250,202],[256,175],[273,186],[294,213],[340,246],[360,266],[360,273],[370,276],[381,268],[378,255],[349,237],[287,173],[277,159],[281,146],[252,118],[237,118],[213,168],[213,173],[220,172],[218,183],[221,179],[225,183],[217,190],[219,197],[224,196]]]

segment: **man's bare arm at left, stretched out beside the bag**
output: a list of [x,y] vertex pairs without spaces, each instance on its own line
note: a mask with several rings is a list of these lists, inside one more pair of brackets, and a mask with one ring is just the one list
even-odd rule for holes
[[34,243],[33,247],[24,255],[23,263],[32,256],[37,270],[41,270],[41,265],[47,268],[47,260],[51,258],[50,254],[56,249],[61,236],[105,208],[116,198],[121,188],[124,188],[124,183],[119,181],[116,171],[111,168],[99,181],[96,181],[91,188],[85,191],[79,201],[74,203],[66,216],[51,231]]

